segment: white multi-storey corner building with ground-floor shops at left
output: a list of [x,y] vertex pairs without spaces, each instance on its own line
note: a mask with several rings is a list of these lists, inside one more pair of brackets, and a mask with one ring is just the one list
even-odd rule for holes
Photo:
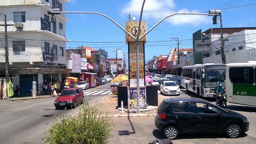
[[[10,77],[20,87],[20,95],[30,95],[32,81],[42,91],[43,82],[61,81],[66,68],[65,14],[51,15],[47,10],[59,8],[65,11],[69,0],[1,0],[0,13],[6,14]],[[4,17],[1,15],[2,18]],[[0,18],[0,24],[3,19]],[[5,77],[4,26],[0,26],[0,77]]]

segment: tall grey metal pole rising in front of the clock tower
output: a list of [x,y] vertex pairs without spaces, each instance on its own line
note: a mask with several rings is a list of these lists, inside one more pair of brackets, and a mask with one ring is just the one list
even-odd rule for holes
[[140,36],[140,26],[141,26],[141,19],[142,19],[142,13],[143,13],[145,1],[146,0],[143,1],[141,6],[140,21],[139,21],[139,27],[138,27],[137,37],[136,37],[137,113],[140,113],[139,36]]

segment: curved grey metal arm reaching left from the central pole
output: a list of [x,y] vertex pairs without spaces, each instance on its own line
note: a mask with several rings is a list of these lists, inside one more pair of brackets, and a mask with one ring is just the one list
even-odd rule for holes
[[110,18],[107,15],[104,15],[102,13],[98,13],[98,12],[48,12],[49,15],[52,14],[60,14],[60,13],[92,13],[92,14],[97,14],[97,15],[101,15],[104,16],[105,18],[109,19],[110,21],[112,21],[114,24],[116,24],[119,28],[121,28],[126,34],[128,34],[132,39],[136,40],[136,38],[131,35],[129,32],[127,32],[121,25],[119,25],[116,21],[114,21],[112,18]]

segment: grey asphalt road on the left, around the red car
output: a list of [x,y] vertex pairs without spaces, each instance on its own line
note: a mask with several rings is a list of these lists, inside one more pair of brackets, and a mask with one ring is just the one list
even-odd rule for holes
[[[110,84],[88,90],[110,90]],[[89,104],[106,97],[107,94],[85,96]],[[50,129],[47,122],[53,116],[74,115],[79,107],[68,110],[55,110],[52,98],[26,101],[0,101],[0,144],[43,144],[44,132]]]

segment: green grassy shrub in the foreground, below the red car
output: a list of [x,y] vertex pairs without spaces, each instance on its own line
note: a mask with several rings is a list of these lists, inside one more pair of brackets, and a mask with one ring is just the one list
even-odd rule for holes
[[103,115],[88,103],[80,107],[78,118],[63,115],[57,122],[54,117],[49,134],[45,132],[42,141],[50,144],[107,144],[112,138],[112,117]]

